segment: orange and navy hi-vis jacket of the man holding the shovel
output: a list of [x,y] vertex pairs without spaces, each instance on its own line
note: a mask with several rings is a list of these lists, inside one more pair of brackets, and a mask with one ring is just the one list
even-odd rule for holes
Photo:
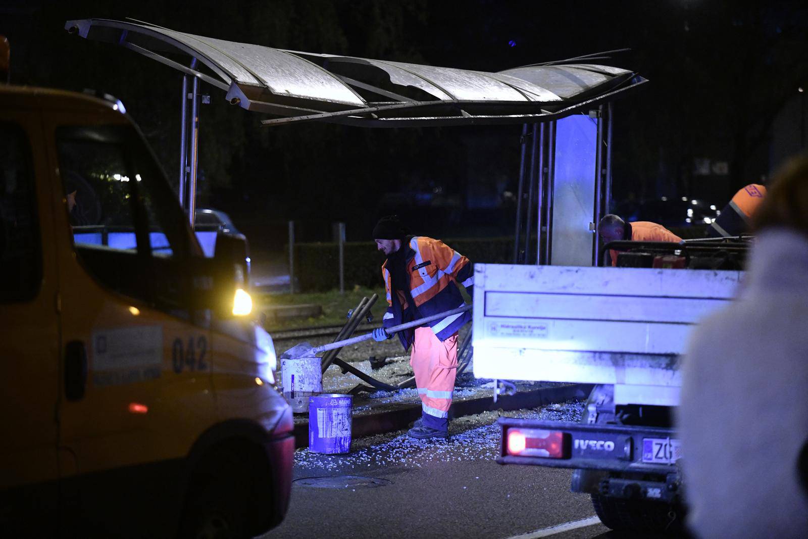
[[[425,236],[409,238],[409,242],[402,242],[401,248],[406,249],[405,267],[415,310],[408,305],[405,293],[393,290],[393,281],[385,260],[381,266],[388,305],[382,320],[385,327],[397,326],[465,305],[456,283],[462,284],[469,294],[472,293],[474,276],[469,259],[444,242]],[[443,341],[454,335],[470,319],[471,313],[465,311],[427,322],[425,325],[430,326],[437,338]],[[415,330],[399,331],[398,338],[407,349],[415,339]]]

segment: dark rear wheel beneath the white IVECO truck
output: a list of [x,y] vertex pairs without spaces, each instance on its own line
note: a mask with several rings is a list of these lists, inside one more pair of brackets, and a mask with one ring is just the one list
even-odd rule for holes
[[684,507],[645,499],[617,499],[593,494],[592,505],[600,521],[616,531],[634,533],[684,533]]

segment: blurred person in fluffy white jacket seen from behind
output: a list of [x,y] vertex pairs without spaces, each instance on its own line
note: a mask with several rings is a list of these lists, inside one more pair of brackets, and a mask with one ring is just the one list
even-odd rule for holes
[[688,528],[808,533],[808,155],[755,213],[739,296],[692,333],[678,415]]

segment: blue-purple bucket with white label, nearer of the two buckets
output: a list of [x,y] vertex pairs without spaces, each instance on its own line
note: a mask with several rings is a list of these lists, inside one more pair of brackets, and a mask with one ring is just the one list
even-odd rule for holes
[[309,397],[309,451],[351,451],[352,395],[322,394]]

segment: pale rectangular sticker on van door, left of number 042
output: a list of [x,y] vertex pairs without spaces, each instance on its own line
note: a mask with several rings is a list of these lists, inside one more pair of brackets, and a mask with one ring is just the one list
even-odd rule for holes
[[154,380],[162,370],[162,326],[93,331],[93,384],[123,385]]

